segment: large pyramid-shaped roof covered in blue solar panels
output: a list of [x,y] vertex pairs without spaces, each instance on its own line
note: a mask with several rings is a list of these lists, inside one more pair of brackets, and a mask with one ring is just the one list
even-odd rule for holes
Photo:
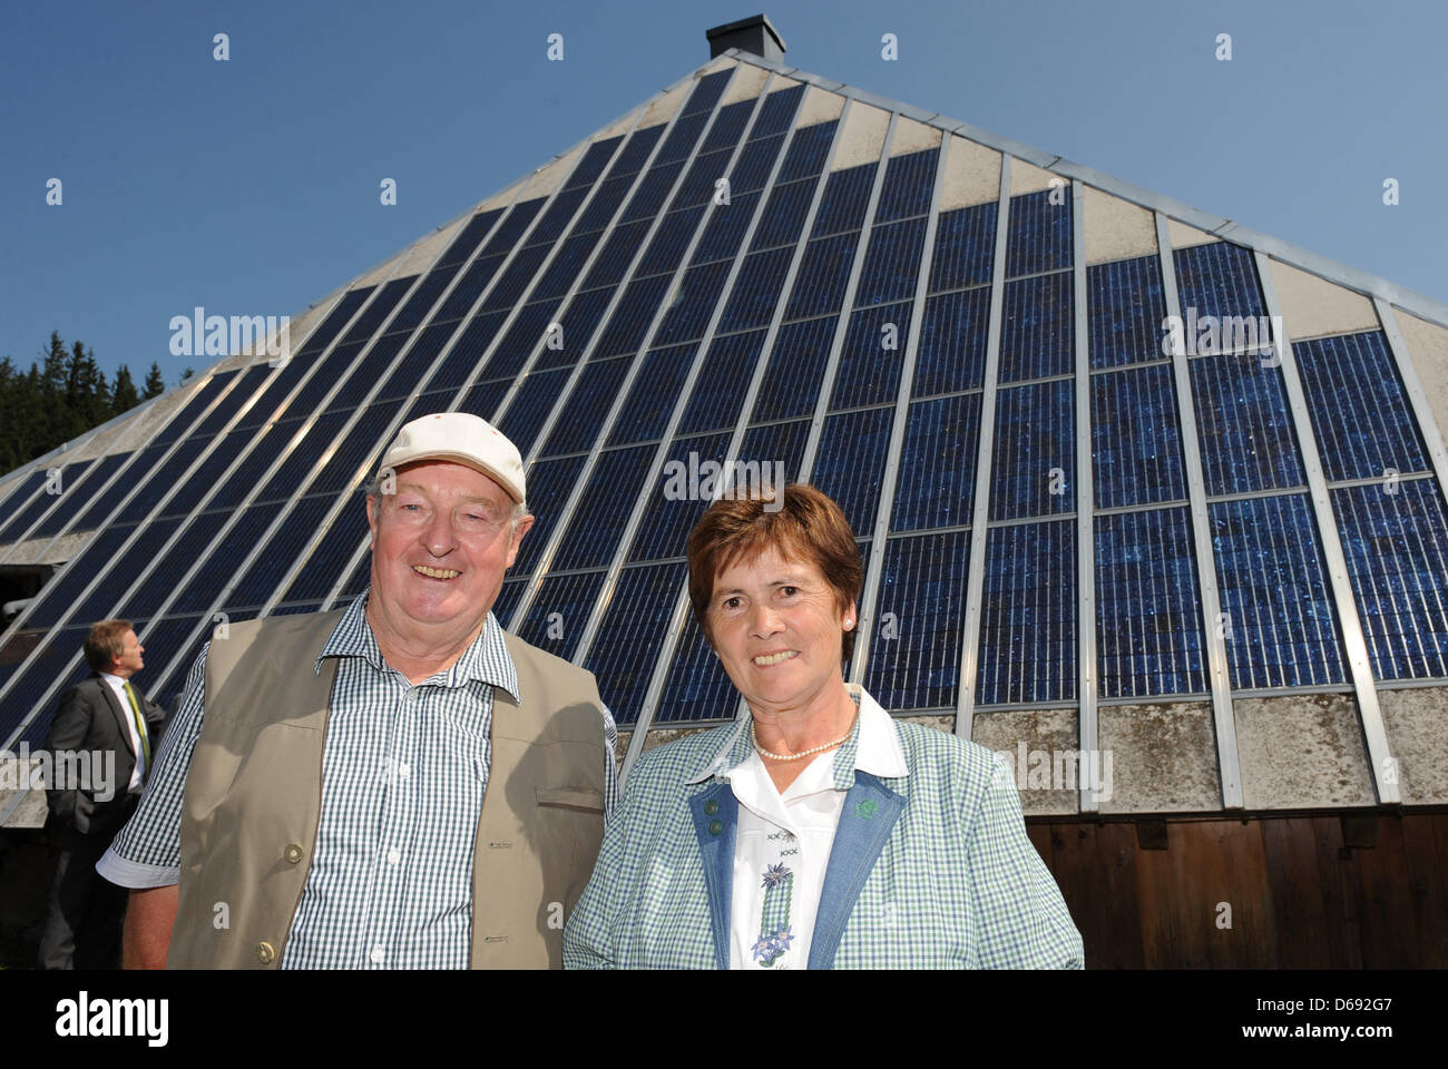
[[[734,714],[683,545],[711,472],[782,471],[860,542],[850,678],[1012,755],[1028,814],[1441,801],[1445,327],[730,51],[297,316],[287,358],[0,481],[0,568],[65,562],[0,637],[0,737],[41,745],[91,620],[136,621],[168,701],[216,627],[359,594],[381,449],[458,408],[539,517],[494,611],[595,672],[628,763]],[[1060,782],[1069,752],[1096,775]]]

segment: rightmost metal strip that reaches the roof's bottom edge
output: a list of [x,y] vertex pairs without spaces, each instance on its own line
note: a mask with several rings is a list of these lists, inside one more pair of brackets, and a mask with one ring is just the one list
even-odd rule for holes
[[[1263,288],[1267,314],[1273,323],[1281,323],[1284,322],[1281,319],[1281,301],[1277,300],[1277,282],[1271,277],[1271,264],[1267,253],[1258,249],[1253,256],[1257,262],[1257,278]],[[1302,449],[1302,466],[1308,474],[1312,511],[1318,520],[1318,537],[1321,539],[1322,555],[1328,562],[1332,597],[1338,607],[1338,624],[1342,627],[1342,645],[1347,652],[1348,671],[1352,674],[1352,688],[1358,698],[1358,718],[1363,726],[1363,737],[1367,742],[1368,771],[1373,775],[1373,785],[1377,789],[1378,801],[1384,805],[1396,805],[1402,802],[1402,795],[1397,789],[1397,776],[1393,772],[1392,747],[1387,742],[1387,729],[1383,724],[1383,711],[1377,701],[1373,662],[1367,655],[1363,620],[1358,617],[1352,585],[1348,581],[1348,565],[1342,553],[1342,540],[1338,536],[1337,514],[1332,508],[1328,481],[1322,471],[1322,458],[1318,455],[1318,439],[1312,429],[1312,411],[1308,408],[1308,395],[1302,388],[1302,377],[1297,372],[1297,359],[1292,352],[1292,343],[1276,330],[1273,335],[1276,356],[1281,361],[1281,377],[1287,390],[1287,403],[1297,430],[1297,446]]]

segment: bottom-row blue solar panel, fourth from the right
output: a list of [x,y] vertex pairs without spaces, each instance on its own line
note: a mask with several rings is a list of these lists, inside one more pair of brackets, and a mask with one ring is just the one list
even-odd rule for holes
[[1076,661],[1076,521],[992,527],[976,701],[1069,701]]

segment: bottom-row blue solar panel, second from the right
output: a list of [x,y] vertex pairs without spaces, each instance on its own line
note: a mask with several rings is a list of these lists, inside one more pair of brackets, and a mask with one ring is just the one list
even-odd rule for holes
[[1337,607],[1308,497],[1218,501],[1211,524],[1232,685],[1342,682]]

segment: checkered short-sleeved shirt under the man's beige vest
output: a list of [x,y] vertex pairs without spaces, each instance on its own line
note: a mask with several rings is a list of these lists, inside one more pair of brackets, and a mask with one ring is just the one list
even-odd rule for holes
[[[337,621],[317,665],[337,659],[327,716],[321,820],[284,969],[465,969],[472,853],[491,766],[492,692],[518,679],[494,616],[458,662],[416,687],[382,661],[368,592]],[[187,676],[136,816],[96,866],[122,886],[180,881],[181,797],[201,734],[203,647]],[[604,710],[604,805],[617,797]]]

